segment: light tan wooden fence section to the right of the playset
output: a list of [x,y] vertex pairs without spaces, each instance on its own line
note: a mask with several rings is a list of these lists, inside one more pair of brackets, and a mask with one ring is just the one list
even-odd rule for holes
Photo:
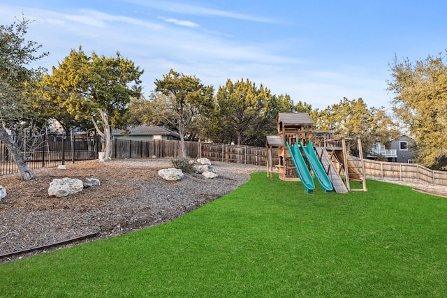
[[416,163],[387,163],[365,160],[365,174],[369,179],[447,185],[447,172],[430,170]]

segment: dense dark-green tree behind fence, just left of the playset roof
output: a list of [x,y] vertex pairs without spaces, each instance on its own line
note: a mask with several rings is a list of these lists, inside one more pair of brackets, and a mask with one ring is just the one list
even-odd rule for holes
[[[256,87],[250,80],[227,80],[219,87],[215,108],[210,113],[204,135],[214,142],[264,146],[265,135],[276,135],[280,112],[312,110],[310,105],[294,105],[291,97],[274,95],[270,90]],[[304,111],[303,111],[304,112]]]

